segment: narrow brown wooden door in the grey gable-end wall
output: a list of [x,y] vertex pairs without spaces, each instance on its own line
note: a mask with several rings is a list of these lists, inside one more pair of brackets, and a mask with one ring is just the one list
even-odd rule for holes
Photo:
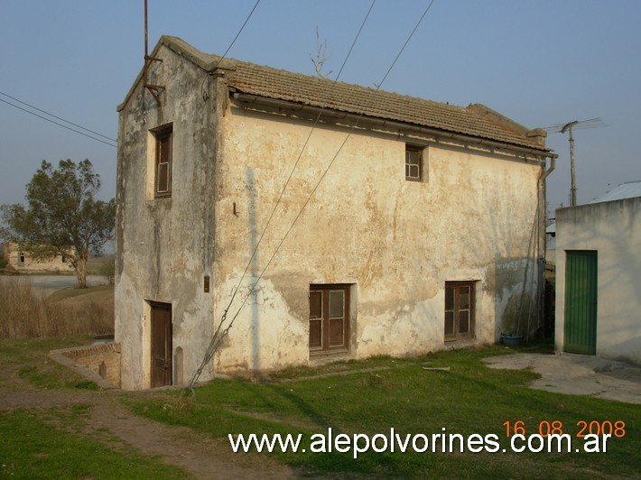
[[172,384],[172,305],[152,304],[152,388]]

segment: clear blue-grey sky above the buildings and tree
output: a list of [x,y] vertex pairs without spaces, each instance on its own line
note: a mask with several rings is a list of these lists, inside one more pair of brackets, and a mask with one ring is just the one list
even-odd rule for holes
[[[339,79],[380,84],[430,1],[376,0]],[[148,0],[149,50],[169,34],[313,75],[318,31],[333,79],[372,0],[260,0],[233,42],[255,3]],[[641,0],[434,0],[381,88],[481,103],[528,128],[601,118],[606,126],[574,131],[577,199],[588,203],[641,180],[640,23]],[[116,106],[143,67],[144,0],[0,0],[0,42],[0,204],[23,202],[42,160],[88,158],[99,198],[113,198]],[[547,145],[559,155],[547,183],[553,217],[570,201],[568,134]]]

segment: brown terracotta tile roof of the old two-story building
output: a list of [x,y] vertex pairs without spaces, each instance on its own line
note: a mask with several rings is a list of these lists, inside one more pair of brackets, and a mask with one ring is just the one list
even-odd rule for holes
[[[163,41],[172,42],[183,53],[189,54],[191,60],[200,60],[209,69],[214,66],[227,69],[228,86],[242,93],[296,102],[304,106],[325,107],[350,114],[363,114],[550,152],[550,149],[537,143],[534,138],[527,137],[527,129],[524,126],[484,106],[452,106],[240,60],[220,61],[218,56],[203,54],[181,39],[163,37]],[[493,115],[481,115],[478,107]]]

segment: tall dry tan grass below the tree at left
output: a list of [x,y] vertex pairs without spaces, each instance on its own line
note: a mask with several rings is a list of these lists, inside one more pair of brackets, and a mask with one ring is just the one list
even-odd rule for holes
[[29,279],[12,280],[0,289],[0,338],[114,333],[113,291],[103,290],[97,297],[88,289],[87,295],[48,301]]

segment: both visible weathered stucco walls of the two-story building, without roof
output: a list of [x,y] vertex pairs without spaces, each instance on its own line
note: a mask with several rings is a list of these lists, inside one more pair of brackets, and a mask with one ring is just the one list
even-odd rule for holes
[[[325,121],[301,155],[309,118],[246,111],[229,98],[224,75],[164,44],[153,55],[163,60],[148,79],[166,87],[160,106],[138,78],[119,107],[123,388],[151,385],[152,302],[172,306],[179,384],[190,381],[226,310],[234,325],[201,380],[308,363],[311,284],[349,285],[351,357],[451,346],[445,282],[475,282],[472,343],[538,327],[540,162],[365,127],[345,142],[348,128]],[[163,125],[172,125],[172,195],[154,198],[153,131]],[[405,180],[405,141],[425,149],[423,181]]]

